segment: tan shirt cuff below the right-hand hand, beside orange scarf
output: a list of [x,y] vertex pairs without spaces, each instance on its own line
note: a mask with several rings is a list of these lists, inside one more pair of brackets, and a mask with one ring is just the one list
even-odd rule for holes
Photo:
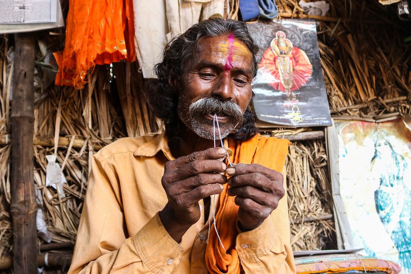
[[247,260],[270,253],[285,253],[284,243],[279,237],[271,218],[267,218],[255,229],[239,231],[235,249],[241,260]]

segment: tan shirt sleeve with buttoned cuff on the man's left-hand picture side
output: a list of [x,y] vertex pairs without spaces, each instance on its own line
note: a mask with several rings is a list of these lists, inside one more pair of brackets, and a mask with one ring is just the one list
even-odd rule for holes
[[104,161],[93,157],[68,273],[172,273],[183,258],[183,248],[170,237],[159,213],[136,235],[128,235],[116,176],[104,167]]

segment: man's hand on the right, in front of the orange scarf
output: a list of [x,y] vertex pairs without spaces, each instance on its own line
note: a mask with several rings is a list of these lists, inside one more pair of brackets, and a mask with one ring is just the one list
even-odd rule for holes
[[257,228],[277,208],[284,196],[281,173],[259,164],[236,164],[227,168],[229,196],[240,206],[238,221],[242,231]]

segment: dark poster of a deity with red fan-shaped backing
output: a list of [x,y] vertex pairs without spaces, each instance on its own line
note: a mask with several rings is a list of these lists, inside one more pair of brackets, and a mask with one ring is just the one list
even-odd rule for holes
[[274,20],[248,24],[260,48],[253,81],[259,120],[275,125],[331,125],[314,21]]

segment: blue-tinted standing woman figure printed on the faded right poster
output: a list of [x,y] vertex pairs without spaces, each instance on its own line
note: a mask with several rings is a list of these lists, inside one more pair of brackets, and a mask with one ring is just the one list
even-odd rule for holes
[[378,216],[399,252],[402,273],[411,273],[411,189],[409,163],[392,147],[385,131],[375,131],[371,171],[379,180],[374,192]]

